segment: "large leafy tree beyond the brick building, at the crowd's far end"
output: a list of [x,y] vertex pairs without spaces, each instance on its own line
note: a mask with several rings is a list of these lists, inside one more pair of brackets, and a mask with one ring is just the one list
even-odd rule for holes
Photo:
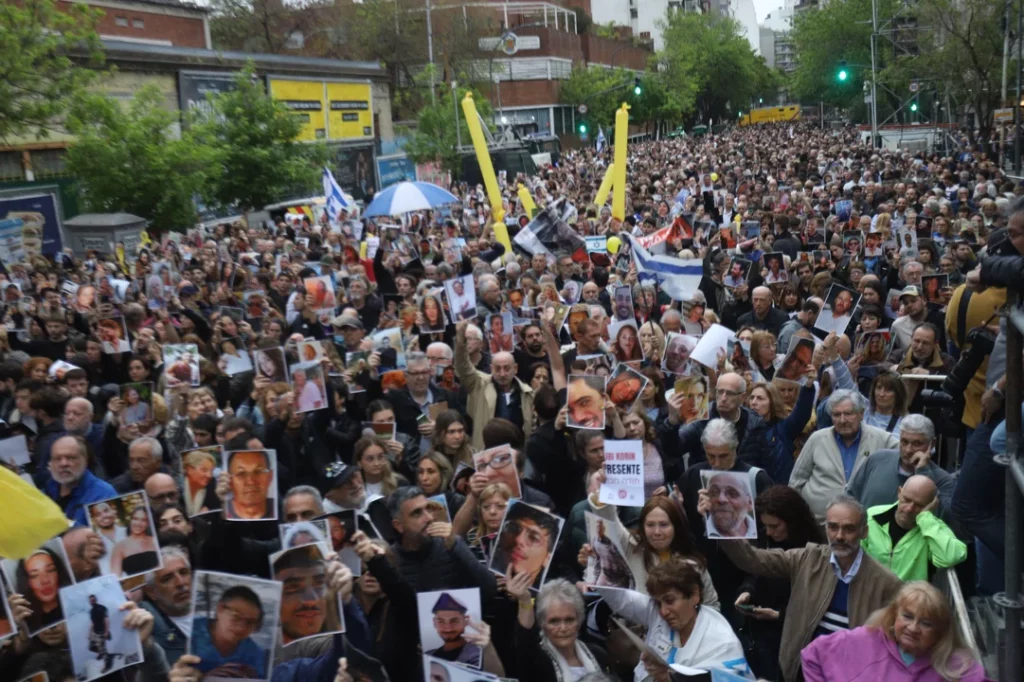
[[665,47],[657,61],[682,116],[731,119],[778,88],[777,76],[754,53],[736,22],[669,12],[662,28]]

